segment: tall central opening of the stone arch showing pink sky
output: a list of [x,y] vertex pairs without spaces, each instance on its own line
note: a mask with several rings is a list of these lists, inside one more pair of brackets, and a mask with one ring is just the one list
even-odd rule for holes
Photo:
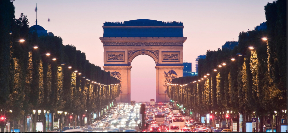
[[[131,100],[150,101],[156,99],[156,73],[153,59],[139,54],[131,64]],[[145,66],[145,70],[143,70]]]

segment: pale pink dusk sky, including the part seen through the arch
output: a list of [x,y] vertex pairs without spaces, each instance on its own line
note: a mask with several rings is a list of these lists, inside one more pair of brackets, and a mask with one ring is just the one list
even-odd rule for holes
[[[183,62],[192,62],[217,50],[226,41],[238,41],[242,31],[253,30],[266,21],[264,6],[273,0],[15,0],[15,17],[27,15],[30,26],[35,25],[37,3],[38,25],[86,53],[86,59],[103,68],[103,23],[153,19],[183,22],[187,37],[183,46]],[[149,101],[156,98],[154,60],[147,55],[131,63],[131,100]]]

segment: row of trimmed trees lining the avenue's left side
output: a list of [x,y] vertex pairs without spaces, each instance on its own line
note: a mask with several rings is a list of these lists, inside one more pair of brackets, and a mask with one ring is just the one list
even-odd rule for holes
[[0,8],[0,106],[8,119],[18,121],[38,109],[81,115],[119,96],[119,80],[86,60],[84,52],[63,45],[60,37],[31,33],[26,15],[15,19],[13,1],[1,1]]

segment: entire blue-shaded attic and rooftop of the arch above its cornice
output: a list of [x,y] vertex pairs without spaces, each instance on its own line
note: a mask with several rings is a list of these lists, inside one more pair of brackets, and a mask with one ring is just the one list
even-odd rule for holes
[[183,37],[182,22],[162,22],[137,19],[124,22],[105,22],[103,37]]

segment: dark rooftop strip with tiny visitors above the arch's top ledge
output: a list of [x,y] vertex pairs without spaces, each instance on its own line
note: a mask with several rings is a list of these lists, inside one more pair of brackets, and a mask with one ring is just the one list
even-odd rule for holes
[[124,22],[105,22],[104,26],[183,26],[182,22],[162,22],[151,19],[136,19]]

